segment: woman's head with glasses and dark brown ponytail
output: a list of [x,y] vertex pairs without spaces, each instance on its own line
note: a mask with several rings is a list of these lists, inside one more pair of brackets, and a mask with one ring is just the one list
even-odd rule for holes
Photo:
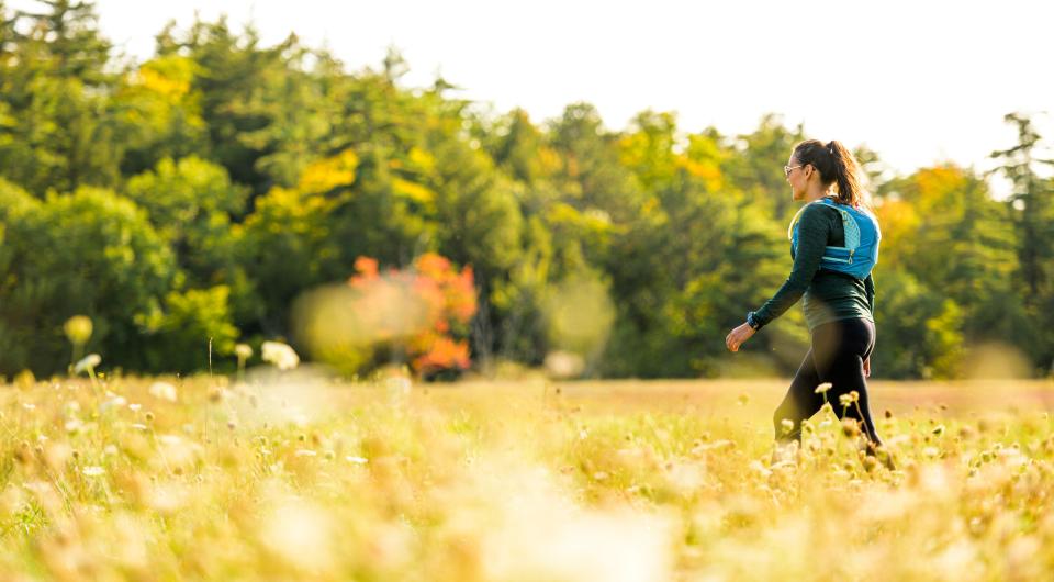
[[795,200],[805,199],[810,188],[834,186],[840,203],[859,206],[863,202],[857,179],[860,167],[853,154],[840,142],[801,142],[794,147],[787,168],[785,172]]

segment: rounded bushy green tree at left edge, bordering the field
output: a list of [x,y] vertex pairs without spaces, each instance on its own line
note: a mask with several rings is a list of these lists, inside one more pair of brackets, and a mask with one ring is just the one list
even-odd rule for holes
[[11,259],[0,322],[8,349],[0,352],[0,372],[65,370],[63,323],[75,314],[94,323],[89,351],[110,366],[143,369],[142,324],[160,307],[176,273],[146,213],[110,191],[81,188],[16,216],[7,224]]

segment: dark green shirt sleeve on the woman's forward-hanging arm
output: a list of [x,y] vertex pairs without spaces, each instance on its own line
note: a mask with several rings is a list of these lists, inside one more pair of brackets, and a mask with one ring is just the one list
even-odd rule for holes
[[790,276],[784,281],[776,294],[754,312],[754,322],[759,329],[772,320],[783,315],[801,299],[812,277],[820,268],[820,259],[827,248],[831,224],[825,211],[818,204],[805,209],[798,220],[798,247],[794,255]]

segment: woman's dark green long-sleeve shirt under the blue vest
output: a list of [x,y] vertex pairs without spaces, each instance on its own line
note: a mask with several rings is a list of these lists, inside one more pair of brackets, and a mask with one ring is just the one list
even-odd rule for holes
[[[801,299],[805,321],[812,331],[828,322],[849,318],[875,321],[875,281],[863,281],[820,268],[827,246],[843,246],[845,233],[838,211],[823,204],[809,204],[798,220],[798,248],[790,257],[790,276],[776,294],[754,312],[760,327],[783,315]],[[759,327],[759,328],[760,328]]]

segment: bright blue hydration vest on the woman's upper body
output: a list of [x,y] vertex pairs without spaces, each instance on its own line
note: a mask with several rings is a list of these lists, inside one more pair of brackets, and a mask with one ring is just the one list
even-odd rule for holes
[[[829,246],[823,249],[820,268],[851,275],[860,280],[866,279],[878,262],[878,242],[882,239],[878,221],[874,214],[866,210],[839,204],[830,198],[821,198],[812,204],[823,204],[837,210],[842,216],[842,230],[845,233],[845,246]],[[807,208],[809,204],[801,206],[790,221],[790,227],[787,228],[792,256],[798,250],[798,219]]]

